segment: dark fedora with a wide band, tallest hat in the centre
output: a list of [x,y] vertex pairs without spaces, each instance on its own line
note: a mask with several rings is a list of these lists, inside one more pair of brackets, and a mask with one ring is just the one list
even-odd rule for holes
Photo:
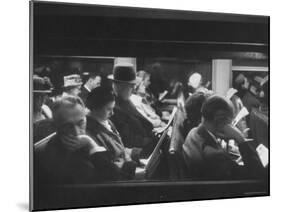
[[130,63],[116,64],[113,68],[113,74],[107,77],[114,82],[136,84],[138,82],[136,71]]

